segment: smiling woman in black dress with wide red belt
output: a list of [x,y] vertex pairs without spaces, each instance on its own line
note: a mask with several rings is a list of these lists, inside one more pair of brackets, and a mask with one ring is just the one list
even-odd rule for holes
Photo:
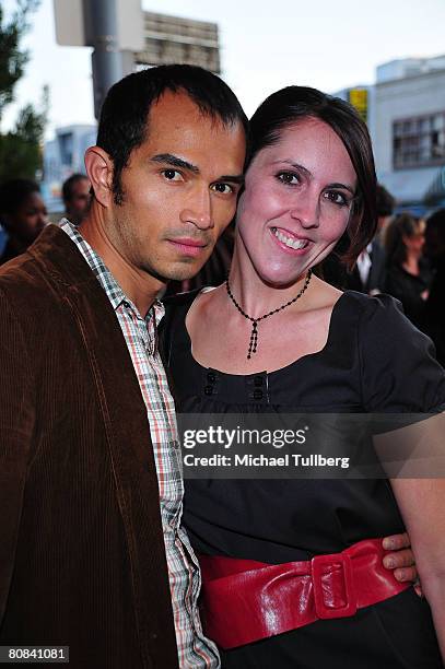
[[[394,301],[341,293],[312,273],[346,231],[350,263],[373,237],[364,124],[341,101],[291,86],[259,107],[251,134],[229,280],[195,302],[176,298],[167,313],[164,351],[178,412],[441,411],[444,374]],[[408,527],[445,654],[443,481],[391,485],[186,482],[184,520],[223,667],[442,666],[429,605],[412,588],[391,589],[373,540]],[[344,565],[358,553],[365,574],[354,566],[351,575]],[[314,556],[332,554],[327,576],[323,563],[331,559],[312,567]],[[354,612],[354,598],[366,590],[372,599],[383,583],[376,603],[365,597]]]

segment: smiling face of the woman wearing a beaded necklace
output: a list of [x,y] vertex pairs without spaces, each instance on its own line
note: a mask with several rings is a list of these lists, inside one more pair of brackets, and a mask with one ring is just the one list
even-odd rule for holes
[[246,174],[237,226],[242,256],[262,281],[294,283],[343,234],[356,175],[331,128],[305,118],[262,149]]

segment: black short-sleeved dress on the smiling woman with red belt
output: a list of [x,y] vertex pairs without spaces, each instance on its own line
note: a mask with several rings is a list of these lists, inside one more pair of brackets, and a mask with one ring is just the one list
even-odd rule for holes
[[[430,340],[388,296],[353,291],[337,302],[326,347],[270,374],[206,369],[191,355],[177,296],[163,350],[180,412],[436,412],[445,375]],[[209,385],[213,388],[209,395]],[[253,399],[253,387],[260,389]],[[403,531],[384,480],[186,480],[184,524],[198,553],[271,564],[335,553],[362,539]],[[236,669],[440,668],[429,605],[412,588],[358,611],[222,653]]]

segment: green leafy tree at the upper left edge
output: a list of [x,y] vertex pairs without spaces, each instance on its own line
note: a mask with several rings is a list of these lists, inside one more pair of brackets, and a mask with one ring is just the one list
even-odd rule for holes
[[[8,24],[3,23],[0,4],[0,120],[4,107],[14,99],[14,86],[23,77],[30,60],[20,43],[28,30],[30,14],[40,0],[17,0],[16,10]],[[0,180],[14,177],[35,178],[42,167],[40,143],[44,137],[48,109],[48,90],[45,87],[40,109],[27,104],[20,110],[15,127],[0,133]]]

